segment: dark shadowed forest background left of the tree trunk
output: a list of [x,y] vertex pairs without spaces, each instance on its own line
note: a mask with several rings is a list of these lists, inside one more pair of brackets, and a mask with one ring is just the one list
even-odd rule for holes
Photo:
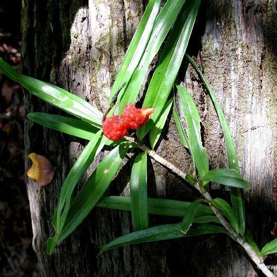
[[[21,1],[0,1],[0,56],[20,67]],[[22,88],[0,74],[0,276],[38,276],[24,171]]]

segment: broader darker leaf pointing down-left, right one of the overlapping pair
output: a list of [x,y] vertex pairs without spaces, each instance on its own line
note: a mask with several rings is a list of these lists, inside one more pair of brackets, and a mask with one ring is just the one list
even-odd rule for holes
[[48,254],[53,252],[56,243],[59,243],[71,234],[90,213],[116,175],[129,146],[129,142],[122,142],[93,171],[89,180],[72,201],[61,232],[56,234],[55,237],[48,239]]

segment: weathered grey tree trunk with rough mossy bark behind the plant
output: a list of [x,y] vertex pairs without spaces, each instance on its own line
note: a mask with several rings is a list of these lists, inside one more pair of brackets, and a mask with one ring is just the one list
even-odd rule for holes
[[[116,72],[145,6],[140,0],[90,0],[89,7],[86,4],[82,0],[23,1],[23,70],[74,92],[104,111]],[[245,192],[247,227],[259,246],[273,238],[271,230],[277,221],[276,19],[273,0],[203,1],[192,34],[193,44],[188,47],[197,56],[221,102],[235,140],[241,173],[251,181],[252,189]],[[181,72],[179,78],[184,80],[201,112],[211,168],[226,167],[224,139],[212,103],[190,67],[183,75]],[[25,105],[27,112],[59,112],[28,92]],[[173,119],[168,122],[163,138],[158,153],[187,171],[190,160]],[[103,244],[133,231],[130,213],[98,208],[47,256],[46,240],[53,231],[51,219],[60,188],[83,145],[84,141],[77,142],[29,120],[25,122],[26,155],[43,154],[56,166],[50,185],[38,187],[27,180],[33,247],[42,276],[179,276],[180,271],[184,276],[199,277],[261,276],[240,246],[224,235],[121,247],[96,258]],[[106,153],[102,152],[96,163]],[[26,168],[29,166],[26,156]],[[127,163],[108,194],[122,193],[130,169]],[[188,201],[199,196],[155,162],[153,170],[149,172],[151,180],[155,179],[149,184],[151,196]],[[227,200],[229,197],[221,186],[214,185],[211,193]],[[150,217],[151,225],[172,221]],[[274,255],[266,264],[276,264]]]

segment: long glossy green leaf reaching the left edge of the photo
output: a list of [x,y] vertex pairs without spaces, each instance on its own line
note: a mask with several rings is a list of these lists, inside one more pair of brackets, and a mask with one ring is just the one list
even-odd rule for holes
[[101,127],[102,113],[82,98],[54,85],[19,74],[2,58],[0,58],[0,71],[50,105],[56,106],[98,128]]

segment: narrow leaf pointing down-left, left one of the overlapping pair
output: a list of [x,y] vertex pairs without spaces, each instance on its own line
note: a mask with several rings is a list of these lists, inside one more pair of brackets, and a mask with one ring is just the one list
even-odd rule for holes
[[[75,186],[80,181],[84,172],[89,168],[95,156],[101,151],[106,140],[107,139],[102,136],[102,130],[99,130],[82,151],[71,168],[69,174],[67,175],[61,188],[60,197],[56,208],[56,222],[53,222],[56,233],[60,233],[63,228]],[[62,219],[61,215],[63,215]]]

